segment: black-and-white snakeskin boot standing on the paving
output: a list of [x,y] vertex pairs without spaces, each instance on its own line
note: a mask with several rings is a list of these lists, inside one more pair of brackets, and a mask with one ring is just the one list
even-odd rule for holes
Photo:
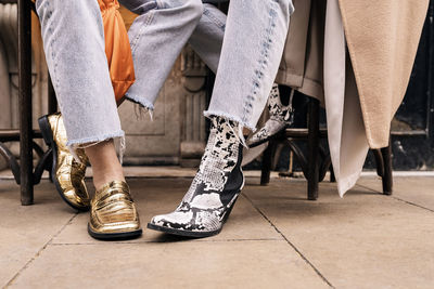
[[244,186],[235,131],[234,122],[212,119],[208,143],[187,195],[174,212],[154,216],[149,228],[195,238],[220,233]]

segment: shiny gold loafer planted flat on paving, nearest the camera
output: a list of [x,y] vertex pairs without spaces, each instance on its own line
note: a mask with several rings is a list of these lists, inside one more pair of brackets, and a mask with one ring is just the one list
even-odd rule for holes
[[97,239],[130,239],[142,234],[139,214],[126,182],[113,181],[91,202],[89,235]]

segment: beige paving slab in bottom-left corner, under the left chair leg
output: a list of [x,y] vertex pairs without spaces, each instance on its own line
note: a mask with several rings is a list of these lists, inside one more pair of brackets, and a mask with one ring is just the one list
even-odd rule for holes
[[22,207],[20,187],[12,181],[0,182],[0,288],[75,215],[52,184],[37,186],[35,195],[34,206]]

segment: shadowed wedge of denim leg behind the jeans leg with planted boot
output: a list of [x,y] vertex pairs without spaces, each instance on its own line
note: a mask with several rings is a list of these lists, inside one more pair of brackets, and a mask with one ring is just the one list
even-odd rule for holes
[[225,13],[205,3],[201,21],[189,39],[190,45],[215,74],[220,60],[225,27]]

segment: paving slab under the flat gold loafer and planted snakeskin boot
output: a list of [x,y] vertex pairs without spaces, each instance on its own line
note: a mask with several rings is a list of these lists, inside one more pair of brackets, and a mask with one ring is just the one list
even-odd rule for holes
[[[178,207],[190,179],[176,180],[129,180],[130,189],[138,206],[143,228],[155,214],[167,213]],[[53,244],[97,244],[87,234],[88,213],[80,213],[53,239]],[[225,226],[225,234],[206,240],[263,240],[282,239],[276,229],[243,197],[235,203],[231,218]],[[130,242],[166,241],[167,235],[144,229],[143,236]],[[203,241],[205,239],[197,239]]]

